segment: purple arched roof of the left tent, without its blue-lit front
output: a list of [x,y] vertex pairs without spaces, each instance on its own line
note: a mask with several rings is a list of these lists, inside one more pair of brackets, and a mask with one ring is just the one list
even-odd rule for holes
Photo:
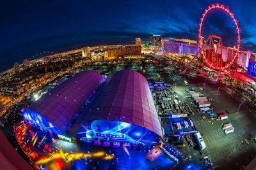
[[103,81],[104,78],[95,71],[82,71],[42,96],[29,109],[40,113],[65,132],[86,99]]

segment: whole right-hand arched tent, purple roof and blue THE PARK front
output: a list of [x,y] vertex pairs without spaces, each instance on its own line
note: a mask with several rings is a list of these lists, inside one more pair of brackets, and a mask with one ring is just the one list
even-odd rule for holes
[[70,132],[84,141],[158,143],[163,135],[146,78],[131,70],[111,74]]

